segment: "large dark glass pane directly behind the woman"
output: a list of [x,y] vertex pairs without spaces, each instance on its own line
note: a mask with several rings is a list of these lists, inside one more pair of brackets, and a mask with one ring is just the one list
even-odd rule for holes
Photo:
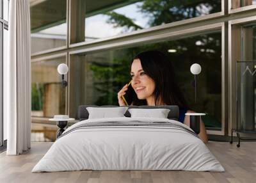
[[[118,105],[118,91],[131,80],[129,64],[132,58],[147,50],[159,50],[166,54],[172,62],[176,83],[182,90],[189,109],[207,113],[203,118],[205,126],[221,130],[220,32],[77,56],[79,59],[74,59],[74,68],[71,68],[76,73],[70,73],[70,78],[76,79],[70,83],[74,90],[74,93],[70,93],[70,101],[77,101],[74,104],[76,112],[81,104]],[[196,104],[194,76],[190,72],[193,63],[199,63],[202,67],[202,72],[197,77]]]

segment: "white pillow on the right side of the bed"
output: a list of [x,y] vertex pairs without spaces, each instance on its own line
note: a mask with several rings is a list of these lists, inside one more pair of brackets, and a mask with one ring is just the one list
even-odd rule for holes
[[170,109],[128,109],[131,118],[150,117],[150,118],[167,118]]

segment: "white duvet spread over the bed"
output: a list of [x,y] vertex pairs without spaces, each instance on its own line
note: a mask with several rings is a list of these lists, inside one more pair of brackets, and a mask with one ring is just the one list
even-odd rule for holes
[[101,118],[78,122],[57,139],[32,172],[72,170],[225,171],[193,134],[168,127],[91,127],[93,122],[170,122],[163,118]]

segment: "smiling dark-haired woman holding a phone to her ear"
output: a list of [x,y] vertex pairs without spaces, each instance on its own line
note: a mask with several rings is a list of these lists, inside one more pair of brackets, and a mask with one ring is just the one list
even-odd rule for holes
[[[131,85],[136,94],[131,105],[166,106],[180,108],[179,122],[189,126],[185,113],[193,113],[186,104],[183,93],[175,79],[172,62],[159,51],[146,51],[138,54],[131,63]],[[118,103],[125,106],[122,98],[128,90],[127,84],[118,92]],[[131,96],[130,96],[131,97]],[[205,143],[208,141],[204,123],[200,122],[198,136]]]

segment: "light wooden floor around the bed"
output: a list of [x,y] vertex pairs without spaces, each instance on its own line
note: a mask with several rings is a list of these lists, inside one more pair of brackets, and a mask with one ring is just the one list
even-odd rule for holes
[[31,173],[31,169],[52,143],[32,143],[28,152],[17,156],[0,154],[0,182],[256,182],[256,142],[212,142],[207,146],[225,172],[195,171],[65,171]]

